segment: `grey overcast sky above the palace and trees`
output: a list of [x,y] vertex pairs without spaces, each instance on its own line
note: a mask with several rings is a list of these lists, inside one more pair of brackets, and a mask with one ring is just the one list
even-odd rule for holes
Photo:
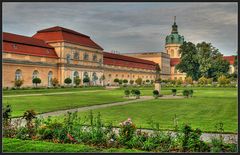
[[164,51],[177,16],[186,41],[237,51],[237,3],[3,3],[3,31],[32,36],[62,26],[89,35],[105,51]]

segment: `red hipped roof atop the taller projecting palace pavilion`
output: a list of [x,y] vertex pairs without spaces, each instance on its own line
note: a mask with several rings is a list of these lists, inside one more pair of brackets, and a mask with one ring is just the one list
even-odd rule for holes
[[45,40],[46,42],[66,41],[81,46],[103,50],[103,48],[95,43],[89,36],[60,26],[37,31],[33,37]]

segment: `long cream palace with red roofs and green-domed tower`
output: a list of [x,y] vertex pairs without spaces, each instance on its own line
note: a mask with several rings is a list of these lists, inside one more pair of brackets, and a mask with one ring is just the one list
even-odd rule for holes
[[[185,73],[175,69],[180,61],[179,47],[184,37],[178,34],[176,22],[166,37],[164,52],[114,54],[94,42],[89,36],[63,27],[37,31],[31,37],[3,32],[3,87],[14,87],[21,79],[23,86],[33,86],[39,77],[41,86],[52,86],[57,78],[64,85],[66,78],[90,78],[91,85],[113,85],[114,79],[155,80],[159,66],[162,79],[184,79]],[[225,56],[234,72],[234,56]],[[104,78],[103,78],[104,77]]]

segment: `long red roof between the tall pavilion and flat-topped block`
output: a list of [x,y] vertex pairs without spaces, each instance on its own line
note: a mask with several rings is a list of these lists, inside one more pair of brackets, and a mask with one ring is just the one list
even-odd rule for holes
[[148,70],[155,70],[157,65],[155,62],[152,61],[133,58],[120,54],[113,54],[109,52],[103,52],[103,64],[131,68],[141,68]]

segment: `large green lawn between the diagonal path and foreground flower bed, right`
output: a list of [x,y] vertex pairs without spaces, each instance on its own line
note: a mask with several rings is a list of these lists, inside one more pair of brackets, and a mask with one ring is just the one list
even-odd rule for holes
[[[193,98],[189,99],[149,100],[96,109],[93,113],[100,112],[104,122],[112,122],[116,126],[130,117],[137,127],[151,128],[148,122],[152,119],[159,122],[162,129],[173,129],[173,118],[176,114],[179,125],[189,123],[193,128],[216,132],[215,125],[223,122],[225,132],[237,132],[236,88],[193,88],[193,90]],[[89,111],[81,112],[80,115],[88,113]]]

